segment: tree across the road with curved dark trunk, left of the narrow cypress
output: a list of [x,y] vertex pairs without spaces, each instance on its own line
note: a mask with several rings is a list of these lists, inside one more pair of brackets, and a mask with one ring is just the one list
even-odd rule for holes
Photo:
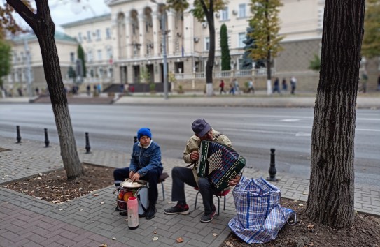
[[[207,22],[209,27],[209,57],[206,63],[206,87],[207,96],[213,95],[213,63],[215,60],[215,23],[213,15],[216,11],[225,8],[226,0],[195,0],[193,1],[192,9],[190,13],[199,21]],[[167,1],[168,8],[172,8],[177,12],[183,13],[188,8],[189,3],[187,0],[169,0]]]

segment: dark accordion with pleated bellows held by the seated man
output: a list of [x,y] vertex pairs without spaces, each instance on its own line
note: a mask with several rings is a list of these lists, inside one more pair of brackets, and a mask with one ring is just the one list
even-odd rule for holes
[[195,163],[197,175],[210,179],[216,190],[224,190],[229,182],[241,172],[246,159],[227,145],[202,141],[199,159]]

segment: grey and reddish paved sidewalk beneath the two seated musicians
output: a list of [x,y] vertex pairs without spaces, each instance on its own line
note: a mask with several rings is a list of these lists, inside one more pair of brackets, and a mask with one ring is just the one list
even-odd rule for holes
[[[17,144],[10,138],[0,141],[0,184],[22,179],[40,172],[62,168],[57,144],[45,148],[41,142],[22,140]],[[125,167],[129,154],[107,150],[78,149],[80,160],[95,165]],[[176,165],[184,165],[181,159],[163,158],[164,171]],[[6,174],[6,175],[4,175]],[[254,167],[246,167],[246,177],[267,177]],[[297,179],[286,174],[276,176],[274,182],[281,189],[282,197],[307,200],[309,179]],[[199,223],[202,207],[194,209],[196,191],[186,188],[191,209],[188,216],[169,216],[164,209],[171,207],[171,177],[164,182],[167,200],[162,200],[159,189],[157,214],[152,220],[139,219],[139,228],[129,230],[125,216],[115,209],[113,186],[98,190],[94,195],[78,197],[64,204],[52,204],[28,195],[14,192],[0,185],[0,246],[220,246],[230,234],[227,226],[236,215],[232,193],[227,195],[226,209],[220,205],[220,215],[211,223]],[[356,210],[380,215],[380,188],[356,186]],[[202,199],[201,199],[202,200]],[[216,202],[216,200],[215,200]],[[217,202],[216,202],[217,203]],[[223,204],[223,200],[220,202]],[[155,233],[157,232],[157,233]],[[153,241],[153,237],[158,237]],[[178,244],[176,239],[183,238]]]

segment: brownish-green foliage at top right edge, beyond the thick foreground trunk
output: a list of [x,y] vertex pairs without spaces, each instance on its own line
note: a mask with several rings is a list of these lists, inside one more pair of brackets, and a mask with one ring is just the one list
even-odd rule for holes
[[380,1],[366,0],[362,54],[367,58],[380,56]]

